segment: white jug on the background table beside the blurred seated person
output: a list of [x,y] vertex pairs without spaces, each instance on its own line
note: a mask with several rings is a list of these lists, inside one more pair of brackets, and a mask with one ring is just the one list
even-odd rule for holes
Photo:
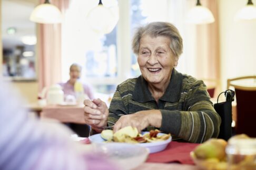
[[62,104],[64,102],[64,92],[59,84],[53,84],[47,92],[47,104]]

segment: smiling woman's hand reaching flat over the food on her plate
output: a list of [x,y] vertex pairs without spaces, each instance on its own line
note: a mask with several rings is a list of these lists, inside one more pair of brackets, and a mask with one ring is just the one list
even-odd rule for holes
[[162,114],[160,110],[145,110],[133,114],[122,115],[114,125],[114,132],[125,126],[136,127],[139,133],[147,126],[160,127]]

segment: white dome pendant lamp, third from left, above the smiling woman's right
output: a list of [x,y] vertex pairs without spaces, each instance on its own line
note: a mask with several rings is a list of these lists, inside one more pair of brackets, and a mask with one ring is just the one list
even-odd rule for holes
[[215,21],[211,10],[203,7],[200,0],[196,2],[196,6],[191,8],[186,19],[187,23],[191,24],[210,24]]

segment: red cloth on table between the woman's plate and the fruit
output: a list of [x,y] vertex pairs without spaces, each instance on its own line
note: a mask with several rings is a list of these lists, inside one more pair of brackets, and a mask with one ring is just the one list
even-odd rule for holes
[[197,145],[199,144],[172,141],[165,150],[150,154],[146,162],[194,164],[190,157],[190,152],[193,151]]

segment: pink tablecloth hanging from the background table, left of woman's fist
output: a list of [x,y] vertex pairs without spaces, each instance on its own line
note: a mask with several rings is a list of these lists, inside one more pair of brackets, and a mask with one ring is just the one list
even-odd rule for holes
[[47,105],[42,109],[41,118],[52,118],[68,123],[85,123],[83,105]]

